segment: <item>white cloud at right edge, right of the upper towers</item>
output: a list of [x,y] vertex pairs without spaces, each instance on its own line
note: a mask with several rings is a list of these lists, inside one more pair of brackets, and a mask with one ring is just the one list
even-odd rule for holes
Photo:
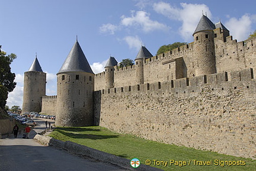
[[255,16],[245,14],[241,18],[230,18],[228,22],[225,23],[226,28],[229,29],[231,35],[234,39],[238,41],[246,40],[251,34],[251,24],[255,21]]

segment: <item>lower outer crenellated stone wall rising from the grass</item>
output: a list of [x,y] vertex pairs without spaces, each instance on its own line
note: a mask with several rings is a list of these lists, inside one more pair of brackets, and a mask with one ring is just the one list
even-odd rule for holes
[[255,159],[252,69],[94,92],[95,124],[119,133]]

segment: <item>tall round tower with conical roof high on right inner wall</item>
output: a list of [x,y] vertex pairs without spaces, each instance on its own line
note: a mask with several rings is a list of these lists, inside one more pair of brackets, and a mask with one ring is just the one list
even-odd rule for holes
[[203,15],[194,31],[194,64],[196,76],[216,73],[215,24]]

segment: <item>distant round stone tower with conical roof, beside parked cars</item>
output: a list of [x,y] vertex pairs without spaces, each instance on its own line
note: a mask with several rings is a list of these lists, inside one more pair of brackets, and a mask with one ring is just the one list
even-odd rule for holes
[[28,72],[24,73],[23,113],[41,112],[41,98],[46,95],[46,73],[39,61],[34,59]]

